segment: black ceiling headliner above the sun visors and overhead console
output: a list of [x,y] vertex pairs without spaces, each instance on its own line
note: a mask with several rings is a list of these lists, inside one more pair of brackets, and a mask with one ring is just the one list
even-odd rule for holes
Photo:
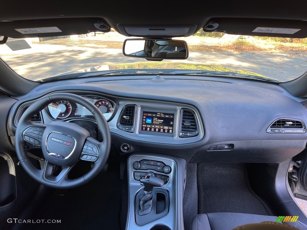
[[[216,2],[216,1],[189,1],[186,6],[178,1],[97,1],[87,0],[84,4],[67,1],[2,1],[0,3],[1,20],[37,20],[71,18],[69,25],[77,26],[73,18],[102,18],[115,30],[119,31],[118,25],[196,25],[196,31],[204,27],[212,18],[229,18],[229,24],[224,29],[228,30],[238,26],[236,31],[247,34],[244,28],[231,18],[253,18],[257,24],[257,19],[284,19],[284,20],[307,20],[307,1],[298,0],[286,2],[280,0],[247,2],[243,0]],[[35,21],[32,27],[35,27]],[[244,20],[243,20],[244,21]],[[0,23],[0,28],[6,22]],[[291,21],[289,21],[291,25]],[[288,25],[289,25],[288,23]],[[307,22],[303,22],[302,30],[306,30]],[[1,25],[2,24],[2,25]],[[68,25],[67,24],[67,25]],[[278,24],[278,23],[277,23]],[[282,23],[280,23],[282,24]],[[297,21],[292,21],[293,28]],[[276,25],[273,21],[272,26]],[[259,25],[261,26],[261,25]],[[231,27],[231,28],[229,28]],[[275,26],[276,27],[276,26]],[[24,27],[23,27],[24,28]],[[83,28],[84,29],[84,28]],[[7,29],[9,30],[9,29]],[[83,30],[82,30],[83,31]],[[229,33],[227,31],[227,33]],[[303,33],[307,36],[307,32]],[[2,33],[2,35],[4,35]],[[63,34],[62,34],[63,35]],[[255,34],[253,34],[255,35]],[[288,36],[289,37],[289,36]],[[300,36],[301,37],[301,36]]]

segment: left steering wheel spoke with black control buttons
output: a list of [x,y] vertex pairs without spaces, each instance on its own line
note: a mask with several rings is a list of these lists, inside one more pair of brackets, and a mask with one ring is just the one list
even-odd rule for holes
[[41,147],[41,141],[46,127],[47,125],[45,124],[30,125],[22,133],[23,140]]

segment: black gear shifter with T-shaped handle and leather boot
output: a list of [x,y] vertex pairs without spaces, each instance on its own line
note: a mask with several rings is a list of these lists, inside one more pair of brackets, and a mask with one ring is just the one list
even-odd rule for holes
[[153,197],[151,192],[153,187],[162,187],[164,181],[154,176],[145,176],[141,177],[140,184],[144,186],[144,194],[139,198],[138,214],[144,216],[152,210]]

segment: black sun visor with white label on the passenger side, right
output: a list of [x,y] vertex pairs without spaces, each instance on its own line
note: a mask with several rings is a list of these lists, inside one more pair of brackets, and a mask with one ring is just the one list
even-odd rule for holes
[[204,26],[205,32],[227,34],[305,38],[307,21],[279,19],[212,18]]

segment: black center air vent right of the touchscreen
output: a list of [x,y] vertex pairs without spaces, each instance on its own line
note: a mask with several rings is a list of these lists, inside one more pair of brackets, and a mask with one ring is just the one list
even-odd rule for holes
[[179,137],[197,136],[198,130],[195,113],[191,109],[181,109]]

